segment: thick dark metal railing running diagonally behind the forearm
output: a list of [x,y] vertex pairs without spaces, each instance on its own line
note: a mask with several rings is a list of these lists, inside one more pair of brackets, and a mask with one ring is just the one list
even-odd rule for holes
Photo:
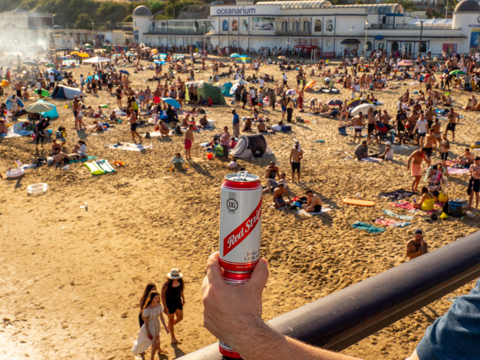
[[[342,350],[480,276],[480,231],[275,317],[280,333]],[[219,360],[213,343],[181,360]]]

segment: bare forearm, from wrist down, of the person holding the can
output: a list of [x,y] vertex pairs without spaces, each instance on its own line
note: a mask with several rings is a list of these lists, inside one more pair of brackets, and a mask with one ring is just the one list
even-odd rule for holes
[[358,360],[356,357],[327,351],[282,335],[265,323],[248,328],[237,336],[234,348],[244,360]]

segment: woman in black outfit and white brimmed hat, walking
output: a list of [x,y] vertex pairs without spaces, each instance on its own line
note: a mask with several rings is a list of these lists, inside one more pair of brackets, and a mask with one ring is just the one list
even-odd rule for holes
[[175,267],[166,274],[166,277],[161,286],[161,302],[164,307],[163,311],[168,315],[171,342],[178,343],[173,326],[183,319],[183,305],[185,304],[183,274]]

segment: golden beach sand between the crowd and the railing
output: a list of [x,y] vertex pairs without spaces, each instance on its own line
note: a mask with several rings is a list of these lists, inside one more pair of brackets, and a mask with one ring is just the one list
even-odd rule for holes
[[[86,65],[73,69],[75,78],[89,71],[92,68]],[[247,70],[246,74],[251,72]],[[260,72],[273,74],[276,80],[281,78],[277,65],[261,67]],[[132,87],[154,87],[155,82],[145,81],[152,74],[152,70],[132,74]],[[196,73],[195,79],[206,79],[210,74]],[[287,74],[289,84],[296,84],[296,72]],[[375,91],[383,102],[379,108],[386,108],[393,116],[396,98],[406,88],[411,93],[420,87],[402,82],[396,89]],[[451,144],[450,153],[457,156],[480,134],[477,114],[460,111],[468,94],[451,92],[455,109],[465,116]],[[6,93],[13,90],[8,88]],[[7,95],[0,101],[4,102]],[[306,106],[312,96],[328,101],[349,98],[350,94],[345,89],[340,95],[306,93]],[[107,101],[107,111],[116,107],[115,97],[105,91],[85,96],[85,104],[93,108]],[[112,174],[92,176],[81,163],[73,163],[66,170],[44,165],[27,169],[21,178],[0,181],[0,357],[134,358],[130,348],[138,333],[139,297],[147,282],[160,286],[172,267],[184,274],[186,304],[184,319],[175,326],[181,342],[171,346],[169,336],[164,332],[160,335],[161,347],[168,349],[163,358],[178,357],[213,342],[214,337],[202,325],[200,287],[206,259],[218,248],[219,185],[231,171],[224,160],[208,160],[199,144],[220,133],[224,125],[231,127],[230,105],[207,108],[207,117],[216,121],[216,129],[195,132],[188,170],[172,173],[168,170],[172,156],[177,151],[183,156],[183,136],[143,139],[142,143],[151,148],[141,152],[106,148],[106,144],[131,142],[125,121],[100,134],[77,135],[71,109],[64,108],[68,102],[51,102],[60,116],[50,128],[55,131],[60,125],[66,127],[68,151],[82,138],[89,155],[108,159],[111,164],[121,160],[125,166]],[[274,124],[280,118],[278,110],[268,108],[262,114]],[[240,117],[248,114],[247,110],[237,111]],[[406,214],[403,209],[390,207],[391,201],[377,194],[409,189],[411,177],[406,159],[413,148],[396,149],[394,161],[370,163],[344,158],[353,154],[355,144],[350,136],[337,134],[337,120],[307,113],[301,117],[310,122],[294,122],[291,132],[265,136],[273,156],[237,161],[264,182],[264,169],[273,159],[290,178],[289,152],[294,140],[299,140],[304,152],[303,183],[290,184],[291,194],[301,196],[311,188],[333,208],[321,215],[298,215],[294,210],[271,208],[271,195],[264,195],[261,254],[270,263],[270,277],[263,292],[265,320],[406,261],[405,244],[412,238],[408,231],[417,227],[423,229],[430,250],[434,250],[474,232],[480,225],[478,215],[463,219],[450,216],[429,223],[422,214],[415,215],[410,226],[388,227],[381,234],[354,229],[351,223],[373,223],[382,215],[382,209]],[[86,124],[93,120],[84,118]],[[442,121],[442,130],[444,127]],[[145,131],[153,131],[153,126],[139,128],[140,133]],[[352,134],[351,129],[347,132]],[[315,142],[320,139],[324,143]],[[46,156],[50,145],[48,139],[38,155]],[[383,146],[372,145],[371,151],[382,150]],[[31,137],[3,138],[0,153],[4,176],[5,168],[13,167],[16,158],[30,162],[35,156],[34,143]],[[438,155],[433,159],[438,160]],[[468,175],[449,176],[449,197],[466,198],[467,180]],[[36,182],[48,184],[46,193],[27,194],[26,187]],[[344,197],[355,197],[357,193],[363,199],[376,201],[375,206],[342,203]],[[85,202],[87,211],[80,208]],[[386,360],[397,360],[409,356],[425,328],[450,306],[446,298],[469,291],[473,284],[343,352],[364,359],[381,355]]]

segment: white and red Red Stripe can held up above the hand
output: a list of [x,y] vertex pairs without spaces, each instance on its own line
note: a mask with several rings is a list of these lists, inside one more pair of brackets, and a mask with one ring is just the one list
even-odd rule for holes
[[262,188],[247,171],[225,175],[220,190],[220,266],[252,271],[260,258]]

